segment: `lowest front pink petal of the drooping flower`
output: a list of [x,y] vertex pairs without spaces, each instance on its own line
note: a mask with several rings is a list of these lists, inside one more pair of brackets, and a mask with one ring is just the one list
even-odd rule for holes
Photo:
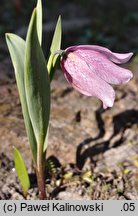
[[67,81],[79,92],[99,98],[104,108],[113,106],[115,99],[113,88],[92,73],[87,63],[76,54],[65,54],[61,59],[61,68]]

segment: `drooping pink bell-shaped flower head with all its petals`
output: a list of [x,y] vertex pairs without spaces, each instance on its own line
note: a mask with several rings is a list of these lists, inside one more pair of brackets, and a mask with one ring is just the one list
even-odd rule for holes
[[99,98],[107,108],[115,100],[110,84],[127,83],[133,77],[131,71],[116,64],[128,62],[132,55],[114,53],[101,46],[72,46],[65,50],[61,68],[72,87],[84,95]]

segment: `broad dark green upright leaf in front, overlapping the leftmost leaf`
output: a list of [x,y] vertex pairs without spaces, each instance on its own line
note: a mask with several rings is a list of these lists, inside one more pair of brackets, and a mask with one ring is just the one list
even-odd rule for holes
[[40,151],[40,148],[43,149],[49,123],[50,80],[37,36],[36,9],[32,14],[26,39],[25,91],[29,116]]

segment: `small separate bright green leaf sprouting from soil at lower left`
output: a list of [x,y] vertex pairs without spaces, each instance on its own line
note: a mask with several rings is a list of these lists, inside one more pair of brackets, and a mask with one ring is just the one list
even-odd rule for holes
[[17,175],[19,177],[23,194],[26,197],[30,188],[30,180],[23,158],[17,148],[14,147],[14,163]]

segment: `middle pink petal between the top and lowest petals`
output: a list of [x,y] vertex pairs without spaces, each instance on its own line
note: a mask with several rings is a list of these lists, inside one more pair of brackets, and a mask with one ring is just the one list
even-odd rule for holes
[[115,65],[105,55],[95,50],[76,49],[72,53],[85,61],[93,73],[108,83],[116,85],[127,83],[133,77],[131,71]]

